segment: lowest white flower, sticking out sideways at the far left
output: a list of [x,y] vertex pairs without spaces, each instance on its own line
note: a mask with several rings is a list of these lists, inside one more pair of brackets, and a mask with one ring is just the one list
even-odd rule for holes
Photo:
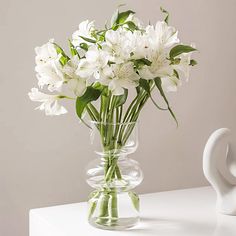
[[67,113],[67,110],[58,103],[59,95],[49,95],[40,92],[37,88],[32,88],[28,93],[29,98],[34,102],[42,102],[36,109],[44,110],[47,116],[61,115]]

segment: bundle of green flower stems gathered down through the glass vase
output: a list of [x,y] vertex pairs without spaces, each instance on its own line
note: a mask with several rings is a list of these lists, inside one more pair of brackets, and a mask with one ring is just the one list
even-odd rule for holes
[[[105,156],[104,165],[104,180],[108,184],[108,188],[102,190],[104,196],[102,196],[100,202],[100,214],[98,223],[100,224],[115,224],[118,218],[117,207],[117,190],[115,188],[109,189],[109,183],[113,179],[122,179],[119,166],[117,164],[118,154],[109,152],[111,150],[119,150],[127,142],[130,137],[135,124],[121,124],[122,120],[126,122],[137,121],[139,114],[148,100],[149,95],[145,91],[141,91],[135,99],[129,105],[124,118],[122,119],[123,107],[115,108],[115,97],[111,94],[108,97],[101,98],[101,107],[99,114],[99,121],[101,122],[100,135],[104,151],[107,154]],[[92,117],[97,119],[96,111],[93,107],[89,107]],[[116,124],[113,125],[113,122]],[[108,220],[110,218],[110,220]]]

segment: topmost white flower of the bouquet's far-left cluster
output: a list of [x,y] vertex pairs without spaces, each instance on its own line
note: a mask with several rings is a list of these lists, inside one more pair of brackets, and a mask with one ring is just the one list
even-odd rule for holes
[[35,62],[37,65],[42,65],[48,61],[57,60],[59,58],[53,42],[54,39],[50,39],[48,43],[35,48]]

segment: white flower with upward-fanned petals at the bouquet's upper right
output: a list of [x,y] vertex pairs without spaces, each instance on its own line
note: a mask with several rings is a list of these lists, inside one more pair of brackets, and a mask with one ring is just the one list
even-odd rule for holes
[[147,26],[146,34],[154,51],[162,51],[179,43],[178,31],[165,21],[158,21],[155,27]]

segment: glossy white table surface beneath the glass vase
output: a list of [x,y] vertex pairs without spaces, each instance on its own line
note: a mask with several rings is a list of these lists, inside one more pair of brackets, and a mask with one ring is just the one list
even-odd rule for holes
[[96,229],[86,203],[30,210],[30,236],[236,236],[236,216],[217,214],[210,187],[141,195],[141,222],[126,231]]

